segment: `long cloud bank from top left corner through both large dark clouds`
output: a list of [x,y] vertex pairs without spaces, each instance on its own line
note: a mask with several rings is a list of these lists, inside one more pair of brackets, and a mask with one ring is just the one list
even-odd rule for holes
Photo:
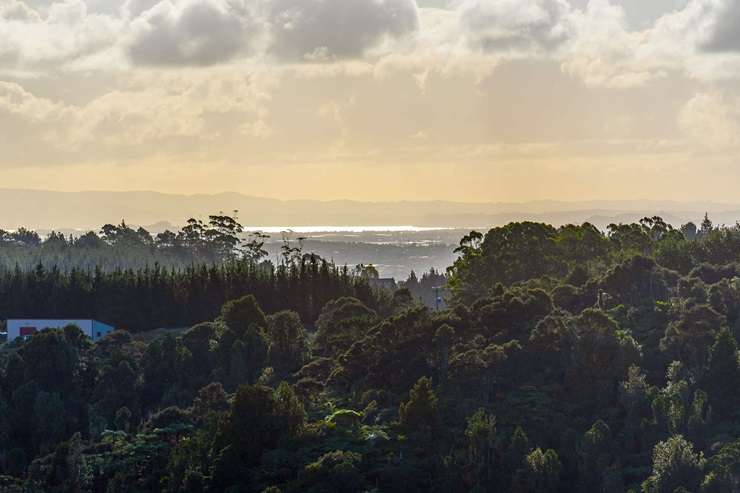
[[[414,0],[0,1],[0,71],[357,60],[420,27]],[[409,46],[412,44],[409,43]]]

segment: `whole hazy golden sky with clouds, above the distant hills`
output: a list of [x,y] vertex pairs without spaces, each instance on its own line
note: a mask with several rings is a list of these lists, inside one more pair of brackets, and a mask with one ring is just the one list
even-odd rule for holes
[[710,199],[737,0],[0,0],[0,187]]

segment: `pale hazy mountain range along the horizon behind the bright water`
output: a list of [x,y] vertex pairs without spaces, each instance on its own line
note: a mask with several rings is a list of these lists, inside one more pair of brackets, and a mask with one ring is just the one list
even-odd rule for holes
[[[487,228],[510,221],[554,225],[591,222],[598,227],[660,215],[680,225],[708,212],[715,224],[740,220],[740,204],[624,201],[522,203],[360,202],[276,200],[239,193],[178,195],[159,192],[53,192],[0,189],[0,227],[37,230],[98,229],[124,219],[152,231],[179,227],[188,218],[239,211],[242,224],[266,226],[421,226]],[[173,226],[174,225],[174,226]]]

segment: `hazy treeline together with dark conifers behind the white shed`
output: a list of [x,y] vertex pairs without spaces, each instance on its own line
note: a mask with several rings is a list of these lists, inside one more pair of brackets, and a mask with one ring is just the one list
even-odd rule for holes
[[93,318],[141,332],[211,320],[244,293],[269,312],[291,309],[310,321],[342,296],[375,307],[364,282],[377,276],[372,268],[337,266],[287,236],[274,265],[266,240],[228,215],[155,236],[125,221],[77,237],[0,230],[0,317]]

